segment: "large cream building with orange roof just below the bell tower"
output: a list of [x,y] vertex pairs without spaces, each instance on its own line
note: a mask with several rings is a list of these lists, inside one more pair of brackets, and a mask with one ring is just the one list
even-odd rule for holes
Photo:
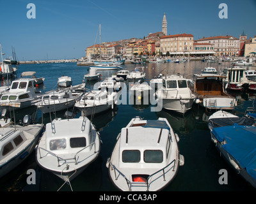
[[192,34],[173,34],[160,38],[160,51],[165,55],[189,54],[193,52],[194,36]]

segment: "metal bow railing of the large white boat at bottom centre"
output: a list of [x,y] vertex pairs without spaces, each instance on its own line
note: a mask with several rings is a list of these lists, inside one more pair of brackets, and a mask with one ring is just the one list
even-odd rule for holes
[[[145,184],[145,186],[147,186],[147,191],[149,191],[149,185],[151,184],[151,182],[149,181],[149,179],[151,179],[154,175],[156,175],[157,173],[159,173],[159,172],[161,172],[161,171],[163,171],[163,179],[164,179],[164,181],[166,180],[165,179],[165,173],[166,173],[166,171],[164,171],[164,170],[166,170],[166,168],[168,168],[171,164],[173,164],[173,166],[170,168],[170,170],[172,169],[173,171],[175,170],[175,165],[176,165],[176,159],[173,159],[173,161],[170,163],[170,164],[168,164],[167,166],[165,166],[164,168],[161,168],[161,170],[158,170],[158,171],[156,171],[155,173],[152,173],[151,175],[149,175],[148,176],[148,178],[147,178],[147,182],[131,182],[129,179],[127,179],[127,177],[125,177],[125,175],[120,171],[120,170],[118,170],[118,168],[116,168],[116,166],[115,165],[113,165],[112,163],[111,163],[111,161],[109,160],[109,158],[108,158],[108,163],[110,164],[110,166],[111,166],[111,170],[114,170],[114,173],[115,173],[115,180],[118,180],[118,177],[117,177],[117,175],[116,175],[116,171],[126,180],[126,183],[127,183],[127,186],[128,186],[128,188],[129,188],[129,191],[131,191],[131,187],[132,187],[132,184],[133,185],[136,185],[136,184]],[[168,171],[170,171],[170,170],[168,170]],[[158,177],[159,178],[159,177]],[[158,179],[157,178],[157,179]]]

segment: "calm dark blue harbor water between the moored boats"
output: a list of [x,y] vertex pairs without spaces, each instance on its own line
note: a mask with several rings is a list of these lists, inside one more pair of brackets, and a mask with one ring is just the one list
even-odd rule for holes
[[[125,64],[124,68],[130,71],[138,64]],[[193,78],[194,73],[200,71],[206,66],[213,66],[218,71],[230,66],[230,62],[207,64],[201,61],[189,61],[186,63],[173,64],[150,64],[144,66],[147,82],[159,73],[177,74],[180,73],[186,78]],[[62,75],[72,77],[73,85],[81,84],[83,75],[88,73],[88,66],[77,66],[76,63],[58,63],[58,64],[20,64],[18,76],[23,71],[36,71],[37,77],[44,77],[44,87],[41,91],[50,91],[56,89],[58,78]],[[254,68],[253,68],[254,69]],[[109,77],[113,71],[102,71],[102,79]],[[1,82],[6,85],[8,82]],[[86,84],[90,89],[93,84]],[[255,93],[240,94],[235,93],[238,99],[235,108],[236,115],[243,116],[248,106],[253,106]],[[28,108],[20,113],[24,114],[35,111],[35,108]],[[65,112],[65,111],[64,111]],[[55,117],[63,117],[64,112],[56,113]],[[76,117],[81,113],[77,112]],[[34,113],[37,122],[42,121],[40,111]],[[211,112],[204,108],[194,105],[186,115],[161,110],[161,112],[151,112],[150,105],[118,105],[114,110],[95,115],[93,124],[100,131],[102,140],[102,149],[100,156],[76,179],[72,180],[73,191],[117,191],[108,177],[106,161],[111,155],[116,142],[116,136],[120,130],[125,127],[132,117],[140,116],[144,119],[157,119],[165,117],[170,122],[175,133],[179,135],[180,154],[185,158],[184,166],[180,166],[177,176],[164,191],[255,191],[255,189],[246,183],[230,166],[224,161],[211,142],[211,135],[207,128],[207,117]],[[45,114],[44,123],[50,122],[49,114]],[[36,184],[28,185],[26,174],[28,169],[36,171]],[[219,184],[218,180],[221,175],[219,171],[225,169],[228,171],[228,184]],[[10,172],[0,180],[0,191],[57,191],[63,180],[59,179],[52,173],[40,169],[36,165],[35,154],[32,154],[18,168]],[[60,191],[71,191],[70,187],[65,184]]]

